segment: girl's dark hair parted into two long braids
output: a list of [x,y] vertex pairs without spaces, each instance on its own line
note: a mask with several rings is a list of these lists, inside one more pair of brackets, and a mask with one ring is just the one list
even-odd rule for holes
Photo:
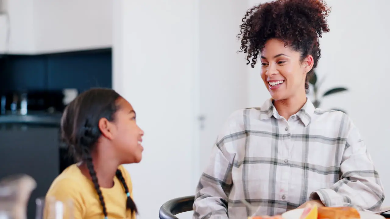
[[[107,208],[96,176],[91,152],[95,149],[102,134],[98,126],[100,118],[113,121],[114,114],[118,109],[115,103],[119,97],[121,96],[111,89],[87,90],[68,104],[61,118],[62,139],[69,145],[69,152],[73,154],[74,159],[87,164],[105,218],[108,218]],[[132,214],[138,213],[121,170],[117,170],[115,176],[121,181],[127,195],[126,208],[130,209]]]

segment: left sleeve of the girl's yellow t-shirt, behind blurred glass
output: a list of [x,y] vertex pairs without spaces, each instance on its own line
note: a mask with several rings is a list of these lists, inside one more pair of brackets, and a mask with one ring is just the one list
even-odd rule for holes
[[85,200],[82,197],[77,183],[71,179],[55,181],[45,197],[44,219],[54,218],[55,202],[61,201],[64,208],[64,218],[84,218]]

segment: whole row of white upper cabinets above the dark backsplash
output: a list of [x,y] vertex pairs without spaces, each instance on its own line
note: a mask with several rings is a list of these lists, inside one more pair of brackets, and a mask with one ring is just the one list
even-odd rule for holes
[[112,0],[3,1],[9,19],[0,15],[0,53],[41,54],[112,46]]

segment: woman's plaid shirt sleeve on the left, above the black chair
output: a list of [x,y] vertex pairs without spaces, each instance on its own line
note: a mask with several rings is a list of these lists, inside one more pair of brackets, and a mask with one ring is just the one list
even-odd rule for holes
[[232,168],[236,152],[232,150],[243,133],[243,111],[227,118],[211,150],[209,164],[202,173],[195,193],[193,219],[228,219],[228,197],[233,186]]

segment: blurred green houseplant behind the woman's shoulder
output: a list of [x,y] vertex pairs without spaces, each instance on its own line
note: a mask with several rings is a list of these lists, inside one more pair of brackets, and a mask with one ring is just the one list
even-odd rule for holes
[[[313,75],[309,80],[309,83],[312,85],[313,97],[314,97],[313,105],[315,108],[318,108],[321,105],[322,99],[324,97],[328,97],[329,95],[337,94],[337,93],[344,92],[344,91],[348,90],[345,87],[335,87],[335,88],[327,90],[326,92],[324,92],[321,95],[321,94],[319,94],[319,88],[322,85],[323,81],[324,81],[324,79],[321,81],[318,81],[317,74],[315,71],[313,72]],[[342,111],[342,112],[346,113],[343,109],[334,108],[334,110],[338,110],[338,111]]]

